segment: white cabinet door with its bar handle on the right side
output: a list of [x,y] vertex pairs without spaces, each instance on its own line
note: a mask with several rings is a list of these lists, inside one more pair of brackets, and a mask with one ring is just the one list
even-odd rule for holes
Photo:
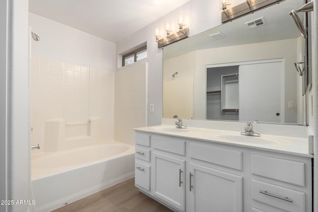
[[184,160],[154,153],[155,196],[184,211],[185,177]]

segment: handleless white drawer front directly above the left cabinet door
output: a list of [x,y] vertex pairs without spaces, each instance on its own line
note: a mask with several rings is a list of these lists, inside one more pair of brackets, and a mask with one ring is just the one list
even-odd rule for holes
[[154,136],[152,137],[153,147],[155,149],[185,155],[185,142],[168,138]]

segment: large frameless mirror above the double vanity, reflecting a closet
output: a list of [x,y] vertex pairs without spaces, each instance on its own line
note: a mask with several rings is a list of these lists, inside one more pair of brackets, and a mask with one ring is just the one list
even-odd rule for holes
[[305,125],[294,65],[305,41],[289,15],[302,5],[285,0],[164,47],[163,118]]

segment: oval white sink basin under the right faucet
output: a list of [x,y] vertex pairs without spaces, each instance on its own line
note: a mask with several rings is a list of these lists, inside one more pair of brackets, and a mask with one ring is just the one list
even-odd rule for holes
[[255,137],[255,136],[220,135],[218,136],[218,138],[226,140],[226,141],[236,141],[236,142],[244,142],[244,143],[277,144],[277,141],[263,139],[261,137]]

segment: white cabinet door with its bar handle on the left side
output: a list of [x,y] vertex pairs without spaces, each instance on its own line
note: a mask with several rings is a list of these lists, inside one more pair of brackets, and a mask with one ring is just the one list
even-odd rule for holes
[[242,212],[241,176],[194,163],[190,171],[189,211]]

